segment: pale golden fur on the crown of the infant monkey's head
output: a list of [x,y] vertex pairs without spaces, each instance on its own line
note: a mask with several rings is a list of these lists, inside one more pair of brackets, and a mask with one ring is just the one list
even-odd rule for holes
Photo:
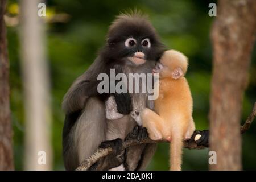
[[161,63],[167,65],[171,70],[180,67],[183,71],[183,76],[188,69],[188,58],[183,53],[176,50],[165,51],[161,57]]

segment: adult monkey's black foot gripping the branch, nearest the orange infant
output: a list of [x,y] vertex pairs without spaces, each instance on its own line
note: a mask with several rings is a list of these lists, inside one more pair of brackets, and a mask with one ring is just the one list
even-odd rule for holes
[[126,140],[132,140],[132,139],[137,139],[137,142],[142,142],[148,137],[147,129],[146,127],[139,127],[135,126],[133,131],[131,131],[127,137],[125,138]]

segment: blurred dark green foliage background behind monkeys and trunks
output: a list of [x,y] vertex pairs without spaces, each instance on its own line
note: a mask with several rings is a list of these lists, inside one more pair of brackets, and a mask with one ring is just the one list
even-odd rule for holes
[[[108,26],[115,16],[135,7],[150,16],[152,24],[168,48],[177,49],[189,57],[186,77],[194,100],[193,117],[198,130],[208,129],[212,74],[212,48],[209,35],[214,20],[208,16],[210,2],[216,1],[47,1],[47,56],[51,72],[53,169],[64,169],[61,155],[64,113],[61,110],[61,101],[65,92],[72,81],[96,58],[98,49],[104,44]],[[7,14],[15,18],[18,13],[18,2],[9,1]],[[15,169],[21,170],[24,158],[24,112],[18,30],[19,25],[7,27]],[[255,57],[254,47],[250,83],[243,102],[242,121],[245,121],[256,101]],[[243,134],[243,169],[256,169],[255,129],[254,123],[251,129]],[[168,169],[168,144],[159,144],[148,169]],[[183,169],[207,170],[208,150],[184,150]]]

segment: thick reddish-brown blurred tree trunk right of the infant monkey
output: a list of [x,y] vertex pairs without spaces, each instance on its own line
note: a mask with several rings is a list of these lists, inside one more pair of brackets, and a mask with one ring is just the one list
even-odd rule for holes
[[256,1],[220,0],[212,27],[211,170],[241,170],[241,106],[256,34]]

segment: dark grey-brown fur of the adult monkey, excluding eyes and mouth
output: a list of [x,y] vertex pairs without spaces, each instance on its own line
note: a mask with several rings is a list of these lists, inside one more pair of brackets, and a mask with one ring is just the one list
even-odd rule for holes
[[[137,45],[127,48],[127,38],[137,40]],[[148,38],[150,48],[142,46],[142,40]],[[106,140],[114,140],[120,144],[129,134],[132,137],[147,137],[146,130],[137,126],[128,115],[134,108],[142,110],[150,107],[147,94],[114,94],[117,110],[126,114],[120,119],[108,120],[105,116],[105,100],[109,94],[98,94],[97,76],[115,69],[117,73],[151,73],[156,60],[164,51],[154,27],[144,16],[134,13],[120,15],[109,28],[107,41],[98,57],[89,69],[81,75],[69,88],[63,101],[66,113],[63,128],[63,156],[67,170],[75,169],[84,159],[90,156],[98,146]],[[143,52],[146,63],[136,65],[127,57],[135,52]],[[151,108],[152,109],[152,108]],[[116,139],[116,140],[115,140]],[[108,142],[102,143],[102,146]],[[113,144],[113,143],[112,143]],[[145,169],[156,149],[155,144],[141,144],[130,147],[118,156],[107,156],[91,169],[106,170],[123,164],[124,169]]]

